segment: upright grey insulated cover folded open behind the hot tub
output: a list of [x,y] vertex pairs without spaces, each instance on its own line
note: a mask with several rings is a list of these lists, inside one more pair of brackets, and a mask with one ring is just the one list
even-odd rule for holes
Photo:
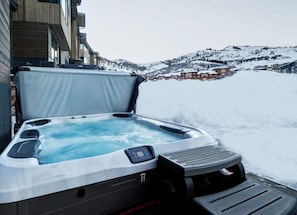
[[22,67],[17,87],[20,122],[40,117],[131,112],[143,78],[124,72]]

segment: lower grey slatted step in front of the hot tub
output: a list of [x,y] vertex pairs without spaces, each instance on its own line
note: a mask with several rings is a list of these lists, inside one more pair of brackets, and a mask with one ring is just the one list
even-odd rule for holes
[[253,179],[222,192],[193,198],[194,208],[202,214],[274,214],[297,211],[297,200]]

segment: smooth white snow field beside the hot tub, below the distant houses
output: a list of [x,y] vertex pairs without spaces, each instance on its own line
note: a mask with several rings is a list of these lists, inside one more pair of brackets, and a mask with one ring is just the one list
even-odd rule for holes
[[240,153],[247,172],[297,190],[297,75],[239,71],[220,80],[140,85],[137,113],[197,127]]

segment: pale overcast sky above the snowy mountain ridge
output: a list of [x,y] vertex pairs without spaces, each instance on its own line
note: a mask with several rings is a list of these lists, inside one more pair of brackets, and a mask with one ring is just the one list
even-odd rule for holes
[[110,60],[172,59],[228,45],[297,45],[297,0],[82,0],[87,41]]

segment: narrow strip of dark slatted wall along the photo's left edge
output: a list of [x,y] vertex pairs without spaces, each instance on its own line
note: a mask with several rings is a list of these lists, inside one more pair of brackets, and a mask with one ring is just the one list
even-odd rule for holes
[[10,1],[0,1],[0,152],[11,138]]

